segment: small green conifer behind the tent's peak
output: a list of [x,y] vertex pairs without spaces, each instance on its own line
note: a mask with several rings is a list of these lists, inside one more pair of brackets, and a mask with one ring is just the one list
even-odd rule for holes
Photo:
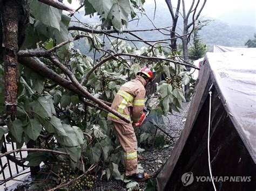
[[198,60],[199,58],[202,58],[207,51],[206,44],[202,43],[198,34],[199,30],[200,29],[194,30],[193,45],[188,48],[188,55],[190,56],[191,60]]

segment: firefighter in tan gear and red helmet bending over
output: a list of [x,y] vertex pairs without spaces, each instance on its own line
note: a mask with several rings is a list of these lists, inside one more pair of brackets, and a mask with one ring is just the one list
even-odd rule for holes
[[117,116],[109,113],[107,119],[111,120],[117,137],[124,151],[125,175],[132,180],[144,181],[149,178],[147,173],[139,173],[137,160],[137,139],[133,126],[140,126],[145,114],[143,112],[145,99],[145,86],[152,79],[153,73],[147,67],[142,68],[136,79],[123,84],[112,102],[111,108],[130,119],[124,122]]

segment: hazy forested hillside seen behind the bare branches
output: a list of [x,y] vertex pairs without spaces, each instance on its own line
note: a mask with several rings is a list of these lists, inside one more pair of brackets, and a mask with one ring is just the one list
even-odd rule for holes
[[[129,23],[130,30],[141,30],[141,29],[153,29],[156,27],[166,27],[171,26],[171,15],[167,7],[163,4],[157,5],[156,15],[154,17],[154,6],[153,4],[146,4],[145,10],[147,15],[139,15],[140,20],[133,20]],[[150,10],[150,11],[149,11]],[[98,16],[95,17],[83,17],[80,14],[77,14],[77,19],[84,23],[90,23],[91,25],[96,25],[99,22]],[[150,18],[150,20],[149,20]],[[224,22],[223,20],[215,19],[215,18],[207,18],[201,17],[201,21],[203,20],[211,20],[207,26],[204,26],[202,30],[199,31],[199,35],[208,47],[208,51],[212,51],[213,45],[221,45],[221,46],[231,46],[231,47],[245,47],[245,43],[248,39],[253,38],[253,34],[256,32],[255,26],[250,26],[252,22],[244,21],[245,25],[241,24],[230,24]],[[154,26],[153,26],[153,24]],[[241,23],[241,22],[240,22]],[[178,29],[181,29],[181,23],[178,25]],[[177,31],[179,32],[179,30]],[[138,36],[145,40],[152,40],[157,36],[159,39],[166,39],[169,36],[165,36],[164,34],[159,34],[157,31],[150,32],[138,32]],[[120,37],[126,37],[129,34],[120,35]],[[181,43],[178,41],[178,43]],[[191,42],[192,43],[192,42]],[[143,43],[136,43],[138,47],[144,46]],[[84,51],[83,44],[79,45],[80,50]]]

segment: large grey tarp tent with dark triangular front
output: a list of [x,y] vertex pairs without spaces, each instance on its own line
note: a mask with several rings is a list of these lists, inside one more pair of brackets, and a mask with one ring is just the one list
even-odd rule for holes
[[[208,91],[213,84],[210,153],[215,175],[254,175],[256,171],[256,48],[207,53],[184,130],[157,176],[158,190],[188,190],[185,172],[209,175],[207,163]],[[242,160],[242,162],[240,162]],[[239,165],[238,165],[239,164]],[[255,181],[256,176],[254,177]],[[251,184],[221,182],[246,190]],[[254,182],[254,186],[256,181]],[[244,189],[242,189],[242,187]],[[241,188],[241,189],[239,189]],[[190,190],[212,190],[211,182]]]

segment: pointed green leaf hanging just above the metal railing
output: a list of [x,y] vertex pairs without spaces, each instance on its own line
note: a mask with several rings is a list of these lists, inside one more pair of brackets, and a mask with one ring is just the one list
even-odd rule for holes
[[11,132],[11,135],[14,136],[14,138],[17,140],[17,142],[22,141],[22,133],[23,133],[23,128],[22,128],[22,122],[19,119],[16,119],[15,121],[6,121],[6,125],[8,129]]

